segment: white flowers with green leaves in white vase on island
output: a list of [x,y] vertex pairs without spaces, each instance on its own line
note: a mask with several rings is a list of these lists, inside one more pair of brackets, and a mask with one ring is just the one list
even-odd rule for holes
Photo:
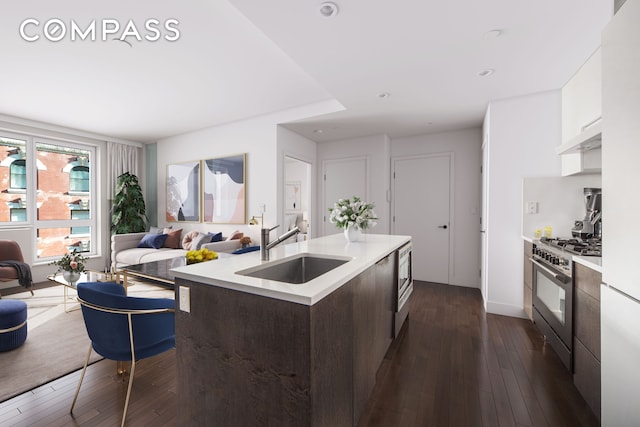
[[350,242],[356,242],[362,237],[362,230],[374,227],[378,219],[373,211],[373,203],[363,202],[359,197],[352,200],[338,199],[329,208],[329,221],[338,228],[344,229],[344,235]]

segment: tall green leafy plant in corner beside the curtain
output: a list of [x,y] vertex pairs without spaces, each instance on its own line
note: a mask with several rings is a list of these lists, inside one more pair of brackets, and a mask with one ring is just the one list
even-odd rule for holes
[[138,233],[147,229],[146,207],[138,177],[125,172],[118,177],[113,207],[111,232],[113,234]]

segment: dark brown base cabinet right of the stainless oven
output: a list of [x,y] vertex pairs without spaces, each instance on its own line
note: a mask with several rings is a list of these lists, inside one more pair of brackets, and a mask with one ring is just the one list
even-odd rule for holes
[[600,419],[600,284],[602,274],[574,263],[573,382]]

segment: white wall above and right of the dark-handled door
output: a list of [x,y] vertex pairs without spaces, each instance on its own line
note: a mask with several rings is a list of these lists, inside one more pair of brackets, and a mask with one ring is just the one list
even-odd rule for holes
[[392,158],[453,153],[453,265],[450,281],[458,286],[480,286],[481,143],[481,128],[394,138],[391,142]]

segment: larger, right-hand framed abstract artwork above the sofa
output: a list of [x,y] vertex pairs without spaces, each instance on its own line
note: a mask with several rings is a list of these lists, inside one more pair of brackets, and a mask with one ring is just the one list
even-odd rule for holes
[[245,156],[203,160],[204,222],[246,223]]

